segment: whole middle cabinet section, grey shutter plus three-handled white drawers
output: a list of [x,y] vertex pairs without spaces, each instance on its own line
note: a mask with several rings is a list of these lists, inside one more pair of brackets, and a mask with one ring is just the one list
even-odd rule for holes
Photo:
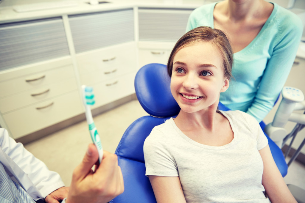
[[134,10],[69,16],[80,85],[92,86],[97,108],[135,93]]

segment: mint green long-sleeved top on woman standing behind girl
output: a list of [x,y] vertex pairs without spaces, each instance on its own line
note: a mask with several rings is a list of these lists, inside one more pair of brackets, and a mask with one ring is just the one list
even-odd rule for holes
[[[215,3],[195,9],[186,31],[199,26],[214,28]],[[244,49],[234,54],[229,89],[220,101],[232,110],[244,111],[262,121],[274,106],[289,75],[300,44],[303,24],[296,14],[274,4],[266,23]]]

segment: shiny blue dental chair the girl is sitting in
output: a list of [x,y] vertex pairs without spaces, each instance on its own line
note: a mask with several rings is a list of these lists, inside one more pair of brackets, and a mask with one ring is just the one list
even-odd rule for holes
[[[124,177],[125,191],[110,203],[156,202],[149,178],[145,176],[143,144],[152,128],[175,117],[180,107],[170,92],[170,77],[167,66],[148,64],[143,66],[135,77],[135,91],[144,110],[150,116],[134,121],[125,131],[115,154]],[[220,110],[230,110],[219,103]],[[264,123],[260,124],[264,129]],[[282,176],[287,174],[288,166],[281,149],[267,136],[272,156]]]

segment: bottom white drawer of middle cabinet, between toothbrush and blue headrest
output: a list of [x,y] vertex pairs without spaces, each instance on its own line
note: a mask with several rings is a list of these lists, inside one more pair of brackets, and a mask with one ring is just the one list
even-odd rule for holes
[[105,105],[135,93],[135,72],[93,86],[95,107]]

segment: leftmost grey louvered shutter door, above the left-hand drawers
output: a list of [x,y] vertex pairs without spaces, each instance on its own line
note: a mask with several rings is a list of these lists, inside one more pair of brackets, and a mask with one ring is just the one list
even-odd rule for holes
[[0,24],[0,71],[68,55],[61,17]]

